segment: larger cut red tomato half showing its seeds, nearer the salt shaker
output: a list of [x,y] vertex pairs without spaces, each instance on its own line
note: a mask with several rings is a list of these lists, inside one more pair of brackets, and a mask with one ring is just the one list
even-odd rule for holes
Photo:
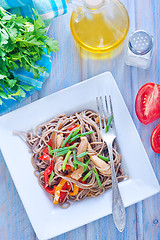
[[149,124],[160,117],[160,85],[144,84],[137,93],[135,111],[139,121]]

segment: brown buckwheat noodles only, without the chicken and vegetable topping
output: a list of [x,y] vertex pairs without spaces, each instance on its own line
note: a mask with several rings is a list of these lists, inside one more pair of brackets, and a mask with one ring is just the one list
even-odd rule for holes
[[[43,150],[48,145],[48,142],[51,138],[51,135],[53,131],[55,134],[63,133],[65,134],[69,133],[67,129],[72,126],[73,124],[76,124],[81,129],[81,133],[87,132],[87,131],[94,131],[93,134],[90,134],[87,137],[90,145],[92,146],[93,154],[101,154],[106,157],[109,157],[107,146],[105,142],[102,140],[101,133],[99,130],[99,118],[98,114],[91,110],[85,110],[82,112],[76,112],[75,114],[71,116],[66,116],[65,114],[61,114],[54,119],[45,122],[41,125],[39,125],[34,131],[28,131],[27,134],[21,134],[21,136],[25,136],[26,143],[28,147],[30,148],[32,155],[32,165],[35,169],[34,173],[38,177],[38,182],[42,188],[44,188],[44,171],[49,166],[49,162],[45,160],[39,160],[38,157],[42,155]],[[79,140],[77,140],[79,141]],[[89,150],[87,150],[89,152]],[[54,156],[53,156],[54,157]],[[121,156],[116,150],[116,144],[114,143],[113,146],[113,158],[114,158],[114,166],[115,166],[115,172],[117,176],[118,181],[122,181],[126,176],[124,175],[124,172],[121,168]],[[77,187],[79,187],[81,190],[78,192],[75,196],[70,196],[69,191],[67,190],[61,190],[67,192],[66,198],[64,199],[63,203],[60,205],[64,208],[69,207],[70,203],[68,200],[71,201],[80,201],[86,197],[97,197],[98,195],[104,193],[108,188],[112,186],[112,178],[111,174],[103,175],[97,166],[94,165],[94,163],[90,160],[87,171],[95,168],[98,172],[100,181],[102,183],[102,186],[99,187],[94,172],[92,172],[91,176],[86,180],[86,183],[82,183],[80,181],[77,181],[75,179],[66,177],[66,171],[59,171],[59,166],[62,166],[63,161],[55,161],[55,167],[54,172],[55,176],[53,177],[50,187],[53,185],[58,184],[58,179],[63,178],[71,183],[71,186],[73,188],[73,183],[76,184]],[[73,165],[73,159],[72,155],[70,156],[68,163],[70,166]],[[65,204],[64,204],[65,203]]]

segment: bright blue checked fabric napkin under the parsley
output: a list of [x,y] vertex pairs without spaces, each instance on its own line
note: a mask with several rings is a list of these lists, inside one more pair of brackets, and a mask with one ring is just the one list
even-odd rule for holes
[[[34,8],[41,16],[46,29],[54,17],[65,14],[67,12],[67,4],[65,0],[0,0],[0,6],[9,10],[11,13],[19,13],[23,17],[34,18],[32,9]],[[34,79],[32,72],[27,72],[24,69],[18,69],[14,73],[23,83],[33,85],[34,90],[27,92],[26,97],[29,97],[35,90],[41,90],[43,82],[49,76],[51,70],[50,56],[44,55],[38,62],[47,68],[47,72],[40,75],[38,79]],[[3,99],[4,104],[0,106],[0,115],[6,112],[11,107],[17,105],[24,98],[17,98],[17,101],[11,99]]]

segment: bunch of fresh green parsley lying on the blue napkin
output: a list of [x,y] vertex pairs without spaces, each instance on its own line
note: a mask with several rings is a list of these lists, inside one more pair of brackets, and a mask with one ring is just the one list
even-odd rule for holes
[[25,97],[34,87],[22,84],[14,76],[14,70],[32,71],[34,78],[47,69],[37,64],[47,50],[59,50],[58,42],[46,35],[45,25],[34,11],[36,20],[10,14],[0,7],[0,105],[3,99]]

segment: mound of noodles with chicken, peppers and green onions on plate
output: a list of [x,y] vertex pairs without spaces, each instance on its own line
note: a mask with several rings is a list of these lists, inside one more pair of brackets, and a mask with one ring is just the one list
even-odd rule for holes
[[[41,124],[37,128],[37,131],[41,130],[41,134],[27,135],[28,146],[31,146],[33,151],[35,169],[40,172],[39,183],[43,189],[53,195],[55,204],[62,206],[63,203],[67,203],[62,207],[68,207],[70,204],[68,201],[98,196],[111,186],[111,167],[110,163],[107,163],[109,159],[103,157],[107,149],[96,124],[97,117],[98,114],[91,110],[71,116],[63,114]],[[90,129],[91,131],[88,131]],[[92,136],[81,136],[79,132]],[[70,140],[74,133],[77,135],[74,136],[76,142],[73,144]],[[71,137],[70,140],[64,143],[68,136]],[[64,147],[62,147],[63,143]],[[35,152],[39,154],[39,159]],[[99,152],[102,155],[98,155]],[[48,161],[42,157],[44,154],[47,155]],[[116,174],[123,179],[125,176],[120,166],[121,156],[116,149],[113,157]],[[54,162],[53,169],[48,167],[51,162]]]

